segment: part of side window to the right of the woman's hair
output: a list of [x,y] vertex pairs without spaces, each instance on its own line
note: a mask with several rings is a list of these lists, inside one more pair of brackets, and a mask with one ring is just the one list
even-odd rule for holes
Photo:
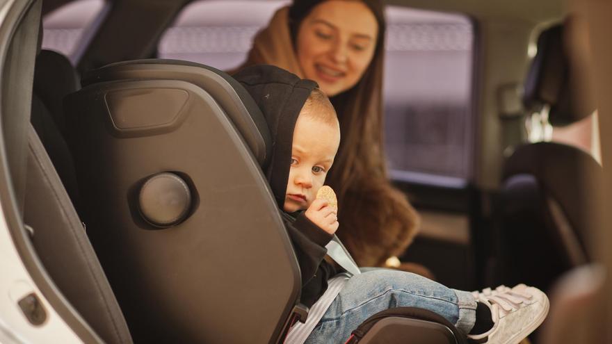
[[385,144],[392,177],[462,186],[473,177],[472,22],[393,6],[387,22]]

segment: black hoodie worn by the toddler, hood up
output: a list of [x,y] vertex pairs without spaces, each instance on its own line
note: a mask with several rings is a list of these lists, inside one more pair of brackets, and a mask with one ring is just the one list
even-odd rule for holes
[[255,99],[266,118],[272,138],[272,156],[270,163],[262,168],[281,210],[300,265],[300,302],[312,306],[327,289],[328,279],[337,273],[332,265],[323,260],[327,253],[325,245],[330,242],[332,235],[308,220],[303,211],[287,214],[282,208],[291,167],[293,129],[300,110],[317,85],[314,81],[300,79],[295,74],[271,65],[247,67],[235,74],[234,79]]

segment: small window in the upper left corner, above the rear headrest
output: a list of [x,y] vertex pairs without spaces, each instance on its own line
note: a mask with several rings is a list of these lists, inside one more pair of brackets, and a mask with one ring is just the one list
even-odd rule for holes
[[104,0],[77,0],[42,19],[42,49],[58,51],[76,65],[97,23],[106,13]]

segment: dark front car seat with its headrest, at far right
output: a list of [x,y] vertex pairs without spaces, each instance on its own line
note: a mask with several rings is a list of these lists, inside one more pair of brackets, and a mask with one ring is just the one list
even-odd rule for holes
[[[548,111],[552,124],[590,115],[577,112],[563,46],[563,27],[538,39],[526,78],[527,113]],[[597,186],[602,168],[586,151],[556,142],[521,145],[504,163],[497,206],[499,266],[494,283],[547,289],[562,272],[590,259],[589,234],[597,225]],[[517,256],[516,252],[521,252]]]

